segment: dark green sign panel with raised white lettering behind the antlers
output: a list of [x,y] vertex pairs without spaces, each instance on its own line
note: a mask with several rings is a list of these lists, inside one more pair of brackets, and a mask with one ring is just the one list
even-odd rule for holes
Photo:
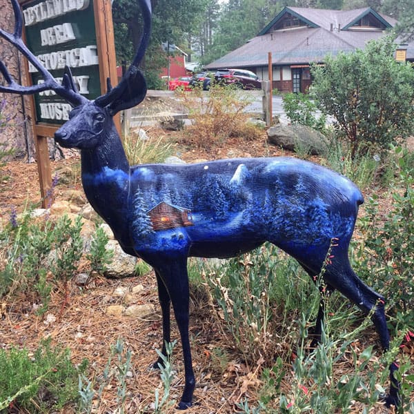
[[[33,0],[23,5],[28,48],[58,81],[69,66],[79,92],[88,99],[101,95],[93,2],[90,0]],[[33,84],[43,83],[29,63]],[[37,122],[63,124],[71,107],[52,90],[34,97]]]

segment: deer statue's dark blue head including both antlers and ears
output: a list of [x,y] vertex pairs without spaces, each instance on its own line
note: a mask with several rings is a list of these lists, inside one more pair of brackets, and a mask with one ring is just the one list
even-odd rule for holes
[[110,80],[108,79],[108,92],[95,99],[95,101],[90,101],[79,93],[68,66],[64,70],[62,83],[59,83],[46,70],[39,59],[30,52],[21,39],[23,17],[19,3],[17,0],[11,0],[11,2],[15,19],[14,32],[8,33],[0,29],[0,36],[15,46],[39,70],[43,77],[43,83],[32,86],[20,85],[14,81],[4,63],[0,61],[0,72],[6,81],[6,85],[0,85],[0,92],[32,95],[43,90],[55,91],[57,95],[68,101],[74,108],[70,112],[69,120],[66,124],[63,124],[55,132],[56,141],[66,148],[95,148],[95,146],[102,142],[103,137],[108,137],[107,132],[115,131],[112,117],[120,110],[136,106],[146,95],[146,81],[138,66],[142,57],[144,57],[150,39],[150,0],[139,0],[144,16],[144,28],[141,43],[130,67],[115,88],[111,87]]

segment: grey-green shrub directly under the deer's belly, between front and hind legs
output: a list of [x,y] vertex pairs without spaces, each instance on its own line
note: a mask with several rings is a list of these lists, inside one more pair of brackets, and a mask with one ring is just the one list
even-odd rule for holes
[[[269,365],[275,359],[278,343],[294,340],[292,315],[308,300],[300,293],[313,288],[297,263],[278,252],[268,244],[203,272],[210,295],[224,316],[226,330],[248,362],[263,358]],[[297,276],[292,276],[295,273]],[[280,326],[286,329],[281,332]]]

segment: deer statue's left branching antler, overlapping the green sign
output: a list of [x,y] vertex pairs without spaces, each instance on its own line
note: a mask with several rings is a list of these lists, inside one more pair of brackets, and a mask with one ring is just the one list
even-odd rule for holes
[[63,85],[61,85],[46,68],[41,64],[39,59],[33,55],[28,47],[23,43],[21,39],[21,33],[23,29],[23,16],[20,10],[17,0],[11,0],[14,12],[14,33],[6,32],[6,30],[0,29],[0,37],[6,39],[9,43],[17,48],[25,57],[32,63],[34,68],[39,70],[43,77],[43,83],[38,83],[32,86],[23,86],[14,81],[12,75],[6,68],[6,65],[0,61],[0,72],[3,75],[6,85],[0,85],[0,92],[17,93],[20,95],[32,95],[36,92],[42,92],[43,90],[54,90],[57,95],[66,99],[73,106],[79,106],[81,103],[88,101],[86,97],[77,92],[74,88],[74,82],[69,68],[65,68],[65,75],[63,75]]

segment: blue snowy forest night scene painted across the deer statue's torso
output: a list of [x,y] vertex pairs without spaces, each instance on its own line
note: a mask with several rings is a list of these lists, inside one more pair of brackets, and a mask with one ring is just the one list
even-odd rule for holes
[[332,237],[347,243],[362,202],[342,175],[287,157],[150,164],[132,167],[130,177],[105,168],[91,179],[101,188],[112,182],[110,198],[130,186],[119,214],[129,223],[123,242],[138,254],[229,257],[270,241],[295,256],[291,248],[326,248]]

